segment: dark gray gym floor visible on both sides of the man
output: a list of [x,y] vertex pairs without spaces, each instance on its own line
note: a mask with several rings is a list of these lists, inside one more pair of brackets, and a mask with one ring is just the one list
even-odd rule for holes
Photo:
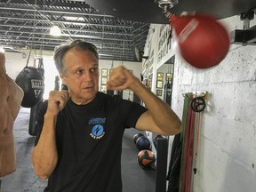
[[[34,173],[30,161],[35,137],[28,134],[30,108],[20,108],[13,132],[17,151],[17,170],[2,180],[1,192],[43,192],[46,180],[40,180]],[[147,171],[137,164],[139,150],[133,142],[133,135],[139,131],[127,129],[124,132],[122,154],[123,192],[155,192],[156,171]]]

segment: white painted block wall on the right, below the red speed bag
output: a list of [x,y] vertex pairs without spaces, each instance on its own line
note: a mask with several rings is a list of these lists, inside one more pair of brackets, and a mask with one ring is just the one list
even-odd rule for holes
[[[239,16],[221,22],[228,31],[243,28]],[[256,19],[251,21],[251,26],[255,24]],[[194,191],[255,192],[256,45],[232,44],[226,59],[207,69],[191,67],[176,52],[173,80],[172,108],[180,118],[182,93],[210,93],[200,131]]]

